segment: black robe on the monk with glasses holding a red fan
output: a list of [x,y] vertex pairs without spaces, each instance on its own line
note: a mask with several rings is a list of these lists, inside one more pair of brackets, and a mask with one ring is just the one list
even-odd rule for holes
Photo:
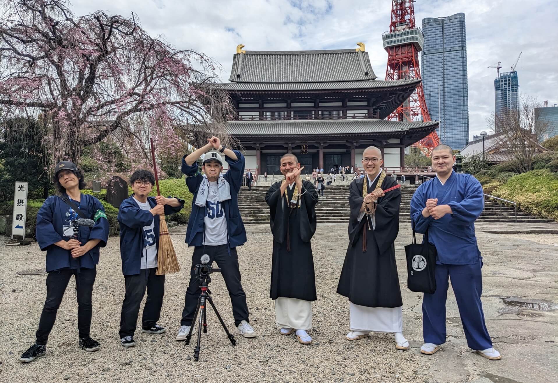
[[[371,187],[368,187],[369,193],[376,188],[378,178],[374,180]],[[360,207],[364,200],[363,182],[369,183],[367,180],[368,177],[365,176],[352,182],[349,187],[349,247],[339,277],[337,292],[359,306],[400,307],[403,306],[403,301],[393,243],[399,231],[401,191],[392,190],[378,198],[375,213],[376,230],[372,227],[368,230],[371,219],[364,215],[362,220],[358,221]],[[397,181],[385,177],[382,190],[395,185]],[[362,244],[363,228],[366,235],[365,252]]]

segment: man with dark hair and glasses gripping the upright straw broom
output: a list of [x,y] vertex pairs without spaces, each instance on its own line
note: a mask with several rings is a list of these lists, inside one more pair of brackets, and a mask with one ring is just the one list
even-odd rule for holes
[[142,332],[165,332],[165,328],[157,324],[165,294],[165,275],[156,274],[159,217],[179,212],[184,206],[184,201],[179,198],[148,197],[155,183],[150,171],[136,170],[130,183],[133,194],[122,201],[118,211],[122,274],[126,280],[126,295],[120,315],[120,338],[124,347],[136,345],[133,336],[146,288]]

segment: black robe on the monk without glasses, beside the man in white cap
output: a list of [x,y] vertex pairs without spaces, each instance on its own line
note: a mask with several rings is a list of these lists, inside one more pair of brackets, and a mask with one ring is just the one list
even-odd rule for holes
[[[310,240],[316,232],[318,193],[312,182],[302,181],[299,202],[295,209],[287,205],[281,183],[271,185],[266,194],[270,206],[273,233],[273,259],[271,264],[271,299],[296,298],[316,300],[314,259]],[[296,186],[287,186],[290,201]],[[300,206],[300,209],[299,209]],[[287,235],[290,251],[287,251]]]

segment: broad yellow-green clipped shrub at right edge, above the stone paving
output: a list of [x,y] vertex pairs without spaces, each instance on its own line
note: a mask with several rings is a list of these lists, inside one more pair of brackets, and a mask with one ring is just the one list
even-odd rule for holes
[[558,174],[549,169],[517,174],[493,192],[531,214],[558,220]]

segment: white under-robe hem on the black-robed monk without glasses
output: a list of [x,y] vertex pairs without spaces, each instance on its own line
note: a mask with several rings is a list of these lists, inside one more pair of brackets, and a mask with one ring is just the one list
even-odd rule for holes
[[279,297],[275,299],[275,317],[278,327],[309,330],[312,328],[312,302]]

